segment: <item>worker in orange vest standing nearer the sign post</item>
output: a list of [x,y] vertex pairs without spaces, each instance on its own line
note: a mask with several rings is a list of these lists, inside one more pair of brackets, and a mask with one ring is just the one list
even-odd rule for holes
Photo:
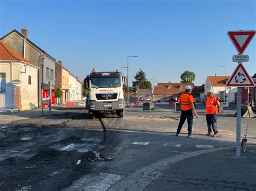
[[212,131],[214,132],[213,137],[217,136],[217,114],[218,106],[220,105],[219,97],[213,95],[213,90],[207,91],[208,98],[205,98],[206,104],[206,123],[208,127],[207,136],[211,136]]

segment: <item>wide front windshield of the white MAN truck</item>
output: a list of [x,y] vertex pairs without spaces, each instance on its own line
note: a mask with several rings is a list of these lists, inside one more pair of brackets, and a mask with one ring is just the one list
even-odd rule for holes
[[93,77],[92,88],[117,88],[121,86],[120,77]]

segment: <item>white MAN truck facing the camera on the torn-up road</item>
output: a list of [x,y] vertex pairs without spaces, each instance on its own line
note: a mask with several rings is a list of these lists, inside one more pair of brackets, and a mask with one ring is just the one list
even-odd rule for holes
[[110,113],[124,117],[124,91],[126,80],[120,72],[92,72],[86,77],[87,108],[91,118]]

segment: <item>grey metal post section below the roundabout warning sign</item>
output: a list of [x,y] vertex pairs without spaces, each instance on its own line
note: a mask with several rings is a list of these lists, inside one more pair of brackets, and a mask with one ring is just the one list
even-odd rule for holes
[[241,96],[242,88],[237,88],[237,157],[241,157]]

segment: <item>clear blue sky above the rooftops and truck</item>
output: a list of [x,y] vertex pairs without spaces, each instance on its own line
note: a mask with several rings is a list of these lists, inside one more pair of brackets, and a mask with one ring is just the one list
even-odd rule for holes
[[[121,70],[129,84],[141,68],[147,79],[179,82],[185,70],[231,75],[238,54],[227,31],[256,30],[255,0],[0,0],[0,37],[23,27],[28,38],[83,80],[91,69]],[[256,37],[244,54],[256,72]],[[127,75],[127,69],[123,68]]]

